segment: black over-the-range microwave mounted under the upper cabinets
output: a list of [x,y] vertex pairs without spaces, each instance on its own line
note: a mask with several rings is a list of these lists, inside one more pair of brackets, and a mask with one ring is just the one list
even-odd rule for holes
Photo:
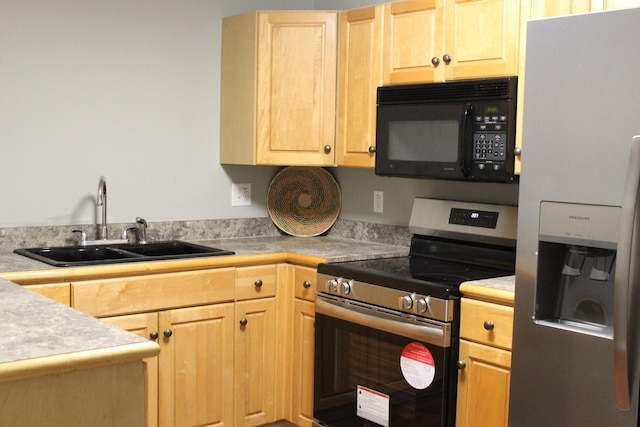
[[376,175],[514,183],[517,77],[382,86]]

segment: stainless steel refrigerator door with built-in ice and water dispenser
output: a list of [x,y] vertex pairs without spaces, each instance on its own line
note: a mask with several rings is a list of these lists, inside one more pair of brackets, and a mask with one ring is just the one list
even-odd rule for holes
[[[562,327],[568,321],[553,325],[553,316],[539,314],[536,307],[536,297],[544,294],[538,292],[543,204],[622,206],[632,137],[640,134],[638,23],[640,9],[527,24],[509,407],[512,427],[638,424],[639,351],[635,328],[629,327],[640,323],[634,314],[637,295],[631,295],[628,311],[636,317],[625,322],[627,333],[607,333],[608,321],[601,333],[594,334],[585,333],[584,325]],[[587,234],[585,241],[570,244],[595,253],[589,242],[589,216],[571,216],[582,221]],[[637,229],[634,233],[638,234]],[[550,241],[544,245],[560,243],[569,244]],[[558,254],[562,267],[567,251]],[[569,261],[566,271],[571,273],[574,260]],[[570,282],[567,278],[567,289]],[[614,301],[629,300],[620,291],[613,293]],[[615,321],[616,314],[614,327],[620,323]],[[614,370],[619,365],[614,363],[616,335],[628,337],[626,360],[632,369],[626,374],[617,375]],[[626,410],[618,408],[616,377],[628,380],[628,385],[620,387],[628,390]]]

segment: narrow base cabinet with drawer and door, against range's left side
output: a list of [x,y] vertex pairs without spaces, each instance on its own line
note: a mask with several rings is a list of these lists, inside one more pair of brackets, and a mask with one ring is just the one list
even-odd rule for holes
[[296,266],[293,319],[293,422],[313,425],[313,361],[315,342],[316,269]]

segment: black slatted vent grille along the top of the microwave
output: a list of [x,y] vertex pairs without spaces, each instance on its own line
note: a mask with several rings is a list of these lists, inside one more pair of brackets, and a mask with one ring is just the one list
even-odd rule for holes
[[515,98],[516,93],[517,77],[382,86],[378,88],[378,104],[506,100]]

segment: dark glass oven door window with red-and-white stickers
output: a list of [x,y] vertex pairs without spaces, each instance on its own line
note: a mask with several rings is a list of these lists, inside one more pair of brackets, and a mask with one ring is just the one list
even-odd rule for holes
[[[403,369],[412,348],[426,348],[433,366]],[[448,356],[448,348],[316,314],[314,417],[335,427],[445,425]]]

